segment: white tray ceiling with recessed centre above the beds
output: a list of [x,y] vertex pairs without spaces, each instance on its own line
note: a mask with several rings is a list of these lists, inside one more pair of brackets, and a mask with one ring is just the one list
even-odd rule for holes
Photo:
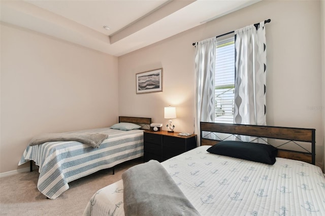
[[0,0],[0,7],[2,22],[121,56],[258,1]]

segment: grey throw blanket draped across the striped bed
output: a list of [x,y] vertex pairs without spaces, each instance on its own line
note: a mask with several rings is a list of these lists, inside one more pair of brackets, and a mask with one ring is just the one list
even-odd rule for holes
[[93,148],[99,148],[107,137],[108,135],[103,133],[46,133],[34,137],[28,145],[35,146],[50,141],[78,141]]

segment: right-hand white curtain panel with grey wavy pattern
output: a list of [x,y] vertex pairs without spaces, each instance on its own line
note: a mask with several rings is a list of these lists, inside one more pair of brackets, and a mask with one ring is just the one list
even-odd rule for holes
[[[235,30],[235,124],[266,125],[266,38],[264,22]],[[245,140],[250,141],[250,140]]]

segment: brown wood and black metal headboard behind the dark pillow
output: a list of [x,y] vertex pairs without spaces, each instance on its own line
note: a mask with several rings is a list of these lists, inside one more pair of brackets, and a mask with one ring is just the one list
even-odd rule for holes
[[283,150],[278,148],[277,156],[281,158],[305,161],[307,163],[311,163],[315,165],[315,129],[259,126],[259,125],[240,125],[240,124],[225,124],[225,123],[210,123],[210,122],[201,122],[200,128],[201,128],[200,129],[201,145],[213,146],[216,145],[219,141],[222,141],[222,140],[203,137],[202,134],[204,131],[225,133],[225,134],[247,135],[247,136],[255,136],[255,137],[265,137],[265,138],[281,139],[281,140],[289,140],[289,141],[310,142],[311,143],[310,152],[291,151],[291,150]]

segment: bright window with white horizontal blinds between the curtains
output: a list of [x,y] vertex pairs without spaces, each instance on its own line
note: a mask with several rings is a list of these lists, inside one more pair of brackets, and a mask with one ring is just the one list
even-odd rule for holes
[[235,96],[235,35],[217,38],[215,55],[215,122],[233,123]]

